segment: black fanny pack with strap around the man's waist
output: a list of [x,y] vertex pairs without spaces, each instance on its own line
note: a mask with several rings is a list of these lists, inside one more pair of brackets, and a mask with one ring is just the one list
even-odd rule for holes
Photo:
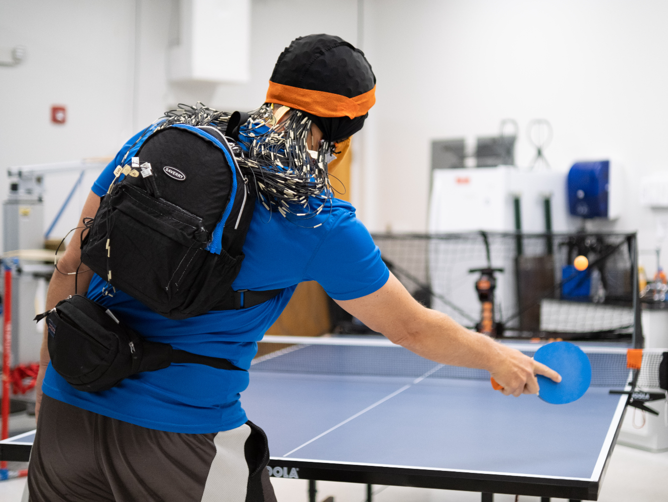
[[142,371],[166,368],[172,362],[205,364],[239,370],[230,361],[176,350],[168,343],[149,342],[120,322],[108,308],[81,296],[70,296],[35,317],[46,318],[51,365],[78,391],[106,391]]

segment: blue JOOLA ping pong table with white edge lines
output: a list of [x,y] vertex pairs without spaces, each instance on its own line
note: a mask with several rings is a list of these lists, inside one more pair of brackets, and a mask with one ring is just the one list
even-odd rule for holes
[[[263,341],[292,344],[254,360],[241,396],[269,437],[273,477],[597,500],[628,399],[609,394],[629,382],[623,348],[583,346],[592,385],[557,406],[380,336]],[[0,442],[0,458],[27,460],[33,437]]]

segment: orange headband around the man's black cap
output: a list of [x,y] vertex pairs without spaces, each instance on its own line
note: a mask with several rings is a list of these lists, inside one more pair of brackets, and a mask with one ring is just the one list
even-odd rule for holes
[[292,85],[283,85],[269,81],[265,103],[278,103],[295,109],[313,113],[318,117],[361,117],[375,103],[375,85],[373,89],[359,96],[345,97],[324,91],[300,89]]

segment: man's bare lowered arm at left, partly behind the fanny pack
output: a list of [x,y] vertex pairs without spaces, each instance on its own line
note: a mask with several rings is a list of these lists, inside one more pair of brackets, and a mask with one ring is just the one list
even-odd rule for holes
[[[98,207],[100,206],[100,197],[93,192],[88,194],[86,204],[83,204],[81,211],[81,218],[77,229],[73,232],[72,239],[69,241],[69,246],[65,250],[62,258],[58,260],[58,270],[53,272],[53,276],[49,281],[49,290],[46,294],[46,308],[50,310],[55,307],[55,304],[60,300],[64,300],[67,296],[74,294],[74,274],[79,262],[81,260],[81,250],[79,249],[79,242],[81,242],[81,232],[83,230],[83,218],[94,218]],[[86,265],[81,265],[77,278],[77,292],[85,294],[88,290],[88,284],[93,276],[93,272],[88,270]],[[39,350],[39,372],[37,373],[37,384],[35,389],[35,417],[39,415],[39,405],[41,404],[41,384],[44,380],[44,374],[47,366],[49,366],[49,348],[47,347],[47,330],[44,329],[44,338],[42,339],[41,350]]]

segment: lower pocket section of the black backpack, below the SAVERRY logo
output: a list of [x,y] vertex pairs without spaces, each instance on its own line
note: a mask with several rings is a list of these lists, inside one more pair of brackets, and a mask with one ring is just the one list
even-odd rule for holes
[[140,188],[120,184],[107,198],[84,240],[83,263],[163,316],[211,310],[243,256],[208,252],[202,218]]

